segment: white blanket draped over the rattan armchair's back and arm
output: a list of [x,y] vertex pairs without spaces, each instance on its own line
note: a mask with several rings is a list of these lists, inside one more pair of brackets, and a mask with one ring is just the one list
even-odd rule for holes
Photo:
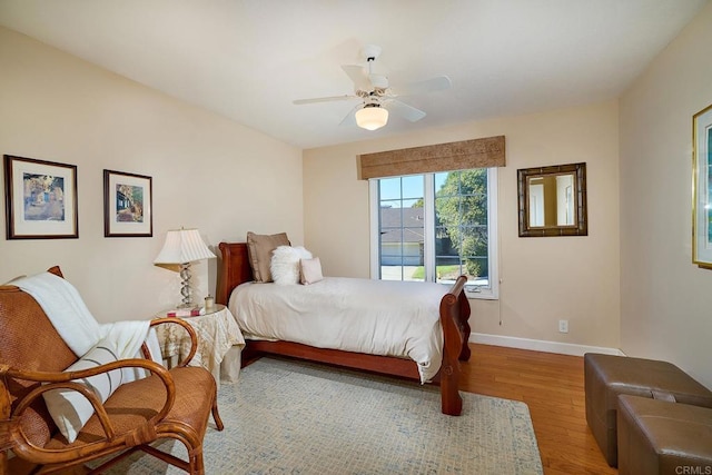
[[[162,364],[156,331],[149,320],[123,320],[99,324],[87,308],[79,291],[68,280],[51,273],[42,273],[13,280],[13,285],[30,294],[42,307],[67,346],[83,356],[99,340],[108,337],[119,350],[119,359],[142,358],[140,348],[148,345],[151,358]],[[146,376],[140,368],[123,368],[123,382]]]

